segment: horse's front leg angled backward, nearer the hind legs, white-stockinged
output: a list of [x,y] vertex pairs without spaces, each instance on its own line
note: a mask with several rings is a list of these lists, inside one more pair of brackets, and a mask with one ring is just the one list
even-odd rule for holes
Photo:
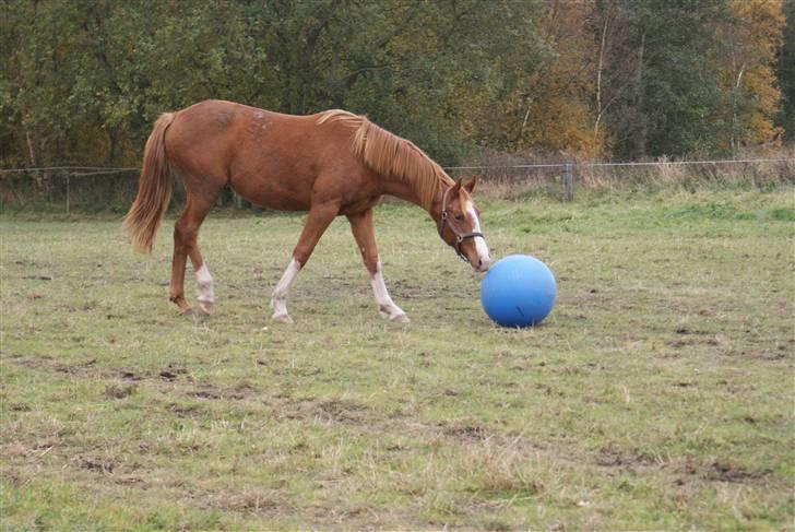
[[293,286],[293,282],[300,269],[312,255],[312,250],[318,245],[318,240],[320,240],[320,237],[339,212],[339,203],[321,203],[312,205],[309,210],[307,223],[304,225],[298,244],[293,250],[293,260],[289,261],[289,265],[284,271],[276,288],[273,291],[273,297],[271,298],[271,307],[273,307],[272,320],[283,323],[293,322],[293,319],[287,314],[287,295],[289,294],[289,288]]

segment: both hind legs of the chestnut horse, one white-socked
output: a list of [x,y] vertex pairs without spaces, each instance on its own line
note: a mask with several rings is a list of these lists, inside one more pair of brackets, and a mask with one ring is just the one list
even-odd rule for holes
[[182,314],[192,312],[185,298],[185,268],[188,257],[190,257],[195,272],[199,307],[204,312],[210,314],[215,302],[213,277],[210,275],[206,263],[202,260],[197,241],[199,227],[214,203],[214,198],[198,198],[189,194],[185,211],[182,211],[174,226],[174,259],[171,262],[169,300],[175,303]]

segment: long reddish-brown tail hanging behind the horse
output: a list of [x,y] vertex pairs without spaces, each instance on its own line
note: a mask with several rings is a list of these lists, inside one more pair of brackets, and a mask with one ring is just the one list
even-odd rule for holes
[[143,152],[138,196],[124,216],[124,229],[130,235],[132,248],[142,253],[152,252],[152,243],[171,199],[165,139],[174,117],[174,113],[164,113],[155,122]]

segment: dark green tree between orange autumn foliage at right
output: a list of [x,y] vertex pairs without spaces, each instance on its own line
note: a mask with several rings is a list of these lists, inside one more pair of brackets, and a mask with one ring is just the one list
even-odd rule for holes
[[615,151],[625,158],[714,151],[723,105],[715,29],[725,17],[724,0],[615,1],[630,28],[627,44],[634,50],[629,57],[636,70],[612,118],[621,115],[621,107],[642,116],[630,135],[621,135],[613,122],[619,140]]

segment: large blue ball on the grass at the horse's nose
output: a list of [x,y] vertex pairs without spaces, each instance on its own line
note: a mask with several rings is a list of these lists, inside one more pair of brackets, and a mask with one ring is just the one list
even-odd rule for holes
[[480,282],[483,309],[502,327],[541,323],[551,311],[556,294],[553,272],[526,255],[497,261]]

